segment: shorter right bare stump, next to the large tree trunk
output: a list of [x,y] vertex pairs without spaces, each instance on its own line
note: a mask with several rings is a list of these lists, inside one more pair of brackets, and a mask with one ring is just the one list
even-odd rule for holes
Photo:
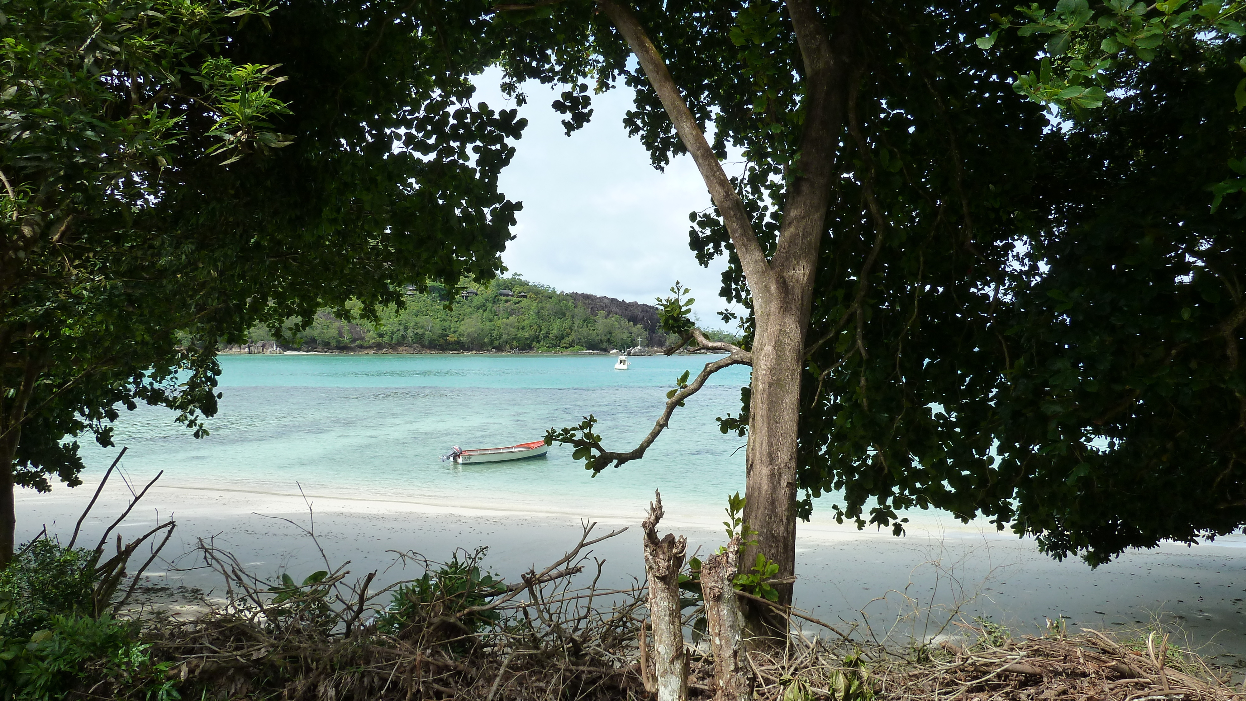
[[744,616],[731,580],[739,572],[740,538],[731,538],[726,550],[701,564],[701,594],[705,623],[714,654],[715,701],[753,701],[753,679],[744,659]]

